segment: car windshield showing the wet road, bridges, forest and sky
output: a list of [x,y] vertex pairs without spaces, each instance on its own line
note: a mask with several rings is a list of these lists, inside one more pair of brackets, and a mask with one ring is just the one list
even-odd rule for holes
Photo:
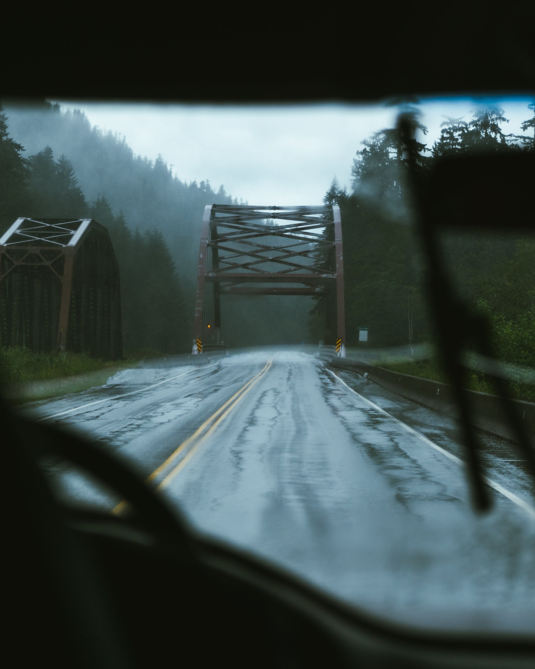
[[[486,166],[532,155],[532,99],[0,114],[0,367],[21,415],[354,607],[535,632],[535,236],[502,204],[503,225],[480,220],[494,194],[531,197]],[[69,504],[128,514],[43,466]]]

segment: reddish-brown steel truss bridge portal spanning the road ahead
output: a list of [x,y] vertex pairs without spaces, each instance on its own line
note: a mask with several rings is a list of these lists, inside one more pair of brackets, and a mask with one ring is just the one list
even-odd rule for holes
[[345,342],[339,207],[207,205],[193,331],[203,347],[221,344],[222,295],[321,297],[324,343]]

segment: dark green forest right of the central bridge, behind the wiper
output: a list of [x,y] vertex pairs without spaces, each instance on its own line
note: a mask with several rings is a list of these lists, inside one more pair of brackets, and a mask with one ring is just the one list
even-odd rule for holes
[[[415,142],[418,169],[433,159],[477,151],[533,151],[535,106],[522,125],[529,134],[506,134],[500,108],[449,118],[433,145]],[[364,142],[352,167],[354,192],[333,183],[326,203],[339,203],[344,233],[346,336],[357,347],[368,326],[367,347],[407,347],[433,341],[421,283],[418,240],[411,227],[407,161],[399,132],[386,129]],[[526,197],[530,197],[526,193]],[[535,368],[535,238],[459,233],[444,237],[443,252],[459,292],[494,323],[494,345],[508,362]],[[321,310],[321,305],[316,306]],[[526,397],[526,388],[516,390]],[[529,391],[532,393],[532,391]]]

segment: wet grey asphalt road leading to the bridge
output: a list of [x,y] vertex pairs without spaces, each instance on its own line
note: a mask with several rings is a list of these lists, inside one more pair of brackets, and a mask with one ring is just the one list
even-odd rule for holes
[[[333,372],[304,353],[249,353],[123,371],[23,411],[55,415],[144,477],[175,454],[153,484],[196,529],[358,607],[426,628],[535,632],[535,500],[514,448],[486,438],[486,474],[513,500],[494,490],[476,515],[451,419]],[[120,501],[55,474],[71,500]]]

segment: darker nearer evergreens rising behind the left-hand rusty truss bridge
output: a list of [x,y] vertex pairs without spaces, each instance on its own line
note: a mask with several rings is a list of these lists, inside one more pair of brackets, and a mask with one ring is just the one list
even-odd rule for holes
[[106,197],[86,199],[65,155],[56,159],[51,147],[29,157],[23,151],[0,108],[0,231],[19,216],[96,219],[108,229],[120,267],[126,355],[189,351],[191,309],[158,221],[132,231]]

